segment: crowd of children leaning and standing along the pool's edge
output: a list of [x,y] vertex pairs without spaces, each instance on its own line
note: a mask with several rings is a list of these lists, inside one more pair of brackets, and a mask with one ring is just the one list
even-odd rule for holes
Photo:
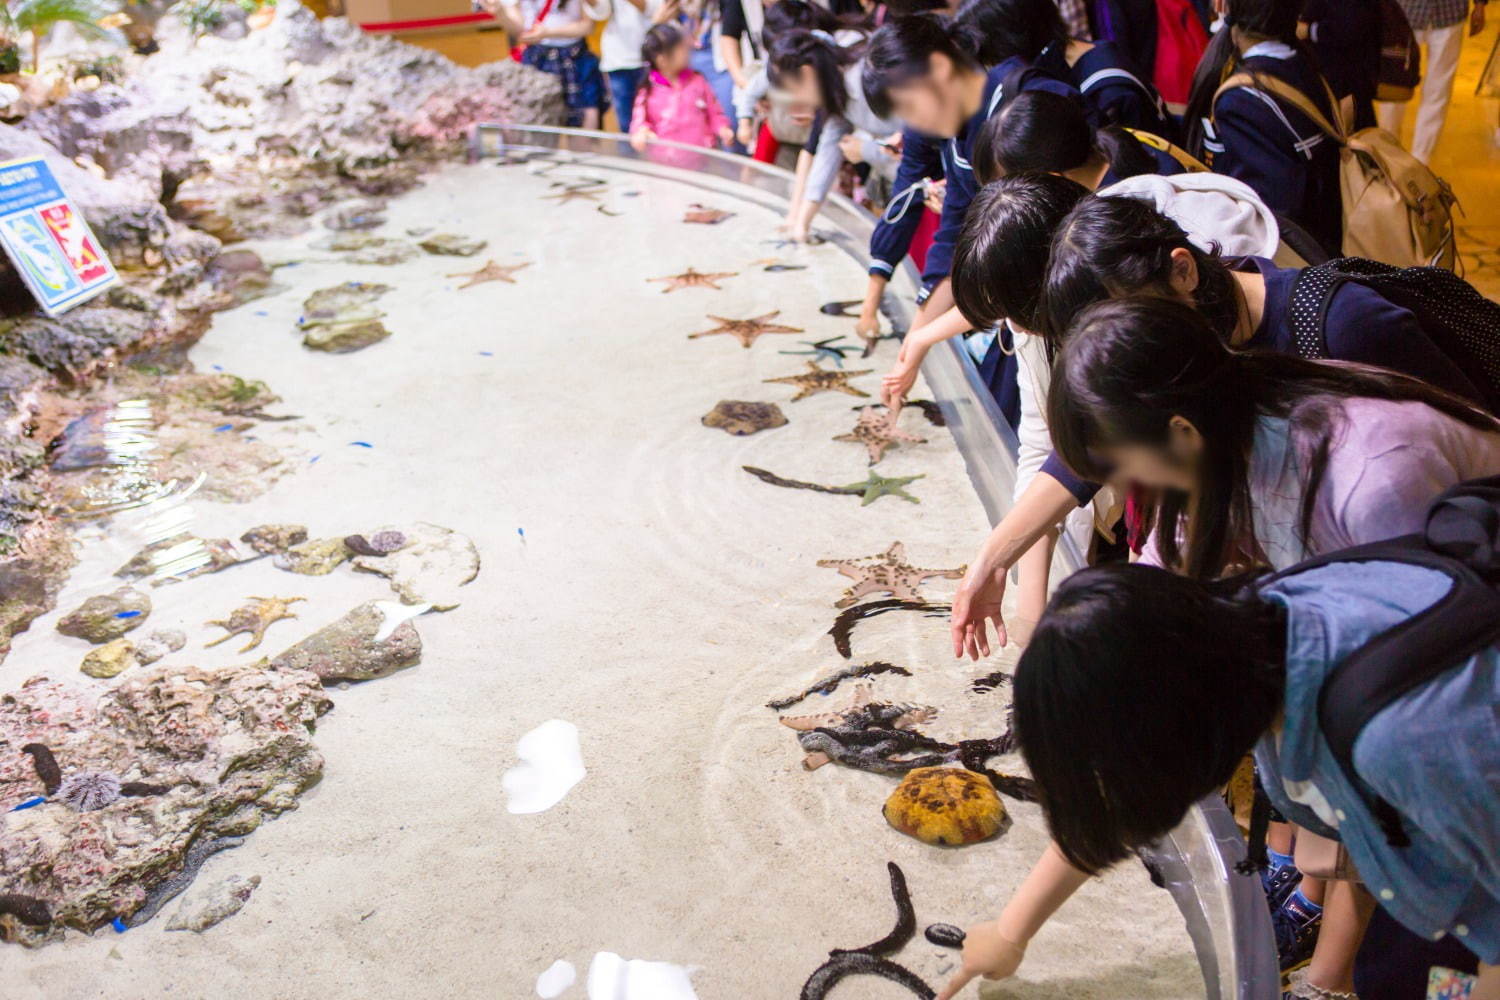
[[[1425,166],[1484,0],[498,12],[585,124],[606,21],[621,130],[794,168],[792,240],[855,175],[879,210],[856,330],[904,258],[922,279],[882,402],[963,336],[1017,430],[952,637],[1024,648],[1054,843],[940,999],[1014,973],[1090,873],[1252,759],[1290,996],[1407,1000],[1448,970],[1500,1000],[1500,306],[1443,270]],[[1372,126],[1422,45],[1408,154]],[[1095,565],[1059,583],[1062,532]]]

